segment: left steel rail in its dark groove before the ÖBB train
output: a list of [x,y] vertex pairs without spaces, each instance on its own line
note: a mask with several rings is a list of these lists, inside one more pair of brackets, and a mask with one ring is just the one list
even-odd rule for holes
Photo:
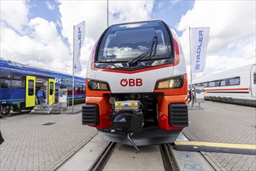
[[114,151],[114,148],[116,147],[116,142],[110,142],[107,147],[103,150],[103,152],[100,154],[98,159],[93,163],[93,165],[89,168],[90,171],[101,171],[104,169],[104,166],[106,166],[108,159],[110,159],[110,155]]

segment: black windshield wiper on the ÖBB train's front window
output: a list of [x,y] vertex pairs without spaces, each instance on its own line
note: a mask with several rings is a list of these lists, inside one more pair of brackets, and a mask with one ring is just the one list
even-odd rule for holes
[[151,44],[150,50],[149,50],[149,51],[146,51],[146,52],[143,53],[143,54],[140,54],[140,55],[139,55],[138,57],[136,57],[136,58],[133,58],[131,61],[128,61],[128,66],[129,66],[129,67],[132,67],[132,66],[137,65],[137,62],[138,62],[138,61],[141,61],[142,58],[145,58],[146,55],[148,55],[148,54],[149,54],[149,56],[146,57],[146,58],[151,58],[151,57],[155,56],[157,44],[158,44],[158,37],[153,37],[153,42],[152,42],[152,44]]

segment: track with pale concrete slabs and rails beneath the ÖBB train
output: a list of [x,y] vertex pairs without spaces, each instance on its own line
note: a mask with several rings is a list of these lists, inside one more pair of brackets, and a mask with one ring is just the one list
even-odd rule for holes
[[[214,170],[198,152],[177,151],[170,144],[139,146],[103,141],[95,134],[56,170]],[[55,170],[55,169],[54,169]]]

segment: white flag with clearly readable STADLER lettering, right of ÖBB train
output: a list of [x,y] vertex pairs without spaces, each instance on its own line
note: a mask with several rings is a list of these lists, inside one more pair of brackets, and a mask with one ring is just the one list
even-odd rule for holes
[[191,28],[192,73],[204,72],[210,27]]

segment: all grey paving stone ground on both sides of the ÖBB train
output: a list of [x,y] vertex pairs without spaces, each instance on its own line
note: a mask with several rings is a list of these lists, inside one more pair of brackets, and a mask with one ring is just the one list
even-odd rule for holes
[[[75,106],[80,108],[82,105]],[[189,111],[184,134],[191,141],[256,144],[256,111],[252,107],[206,101],[204,110]],[[55,123],[51,125],[42,125]],[[52,170],[67,154],[85,144],[96,129],[82,125],[81,113],[22,114],[0,119],[5,142],[0,170]],[[256,155],[202,152],[216,170],[256,170]]]

